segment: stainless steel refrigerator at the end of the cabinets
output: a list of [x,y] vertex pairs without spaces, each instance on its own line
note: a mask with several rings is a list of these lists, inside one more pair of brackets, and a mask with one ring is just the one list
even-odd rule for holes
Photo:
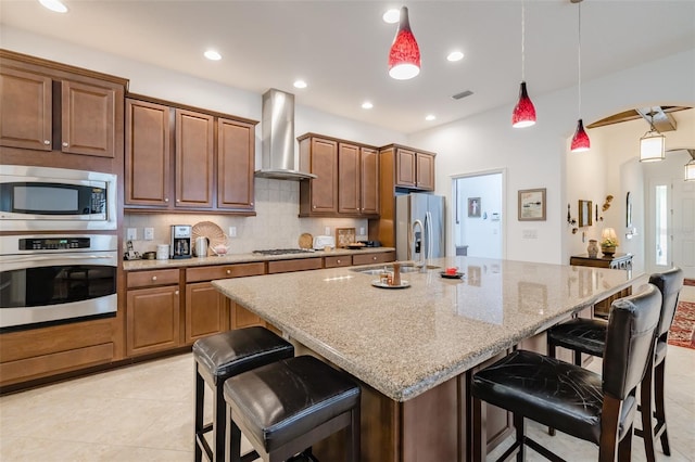
[[399,260],[444,256],[444,197],[410,193],[395,197],[395,249]]

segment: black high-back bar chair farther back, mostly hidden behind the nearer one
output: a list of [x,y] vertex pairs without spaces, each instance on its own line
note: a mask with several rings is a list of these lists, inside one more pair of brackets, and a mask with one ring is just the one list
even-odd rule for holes
[[[680,268],[672,268],[649,277],[649,282],[661,292],[661,315],[655,334],[657,341],[654,357],[649,361],[640,390],[642,429],[634,431],[635,435],[644,438],[644,449],[648,462],[656,461],[654,449],[656,439],[660,438],[664,453],[671,454],[666,426],[664,376],[669,329],[675,317],[678,299],[681,288],[683,288],[683,279],[684,273]],[[558,324],[547,332],[548,355],[555,357],[555,348],[559,346],[573,351],[574,363],[578,365],[581,365],[582,352],[603,358],[608,323],[597,319],[578,318]]]

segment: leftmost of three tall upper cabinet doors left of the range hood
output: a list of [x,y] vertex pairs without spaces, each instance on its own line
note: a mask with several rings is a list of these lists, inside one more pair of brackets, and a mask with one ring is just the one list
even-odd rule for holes
[[170,197],[169,108],[126,101],[126,204],[167,206]]

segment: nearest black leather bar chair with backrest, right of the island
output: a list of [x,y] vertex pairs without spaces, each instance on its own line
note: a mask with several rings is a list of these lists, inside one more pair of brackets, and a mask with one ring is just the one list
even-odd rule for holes
[[[597,374],[538,352],[516,350],[476,373],[471,381],[473,416],[480,423],[481,400],[514,413],[516,442],[500,458],[526,446],[546,459],[561,459],[530,439],[525,419],[557,428],[598,446],[598,460],[629,461],[636,388],[654,355],[661,294],[652,284],[630,297],[615,300],[608,319],[603,373]],[[484,460],[481,425],[473,425],[473,460]]]

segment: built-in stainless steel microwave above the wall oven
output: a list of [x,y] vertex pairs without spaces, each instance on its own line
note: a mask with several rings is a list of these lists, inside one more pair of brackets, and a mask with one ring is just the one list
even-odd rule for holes
[[0,230],[115,230],[117,177],[0,165]]

